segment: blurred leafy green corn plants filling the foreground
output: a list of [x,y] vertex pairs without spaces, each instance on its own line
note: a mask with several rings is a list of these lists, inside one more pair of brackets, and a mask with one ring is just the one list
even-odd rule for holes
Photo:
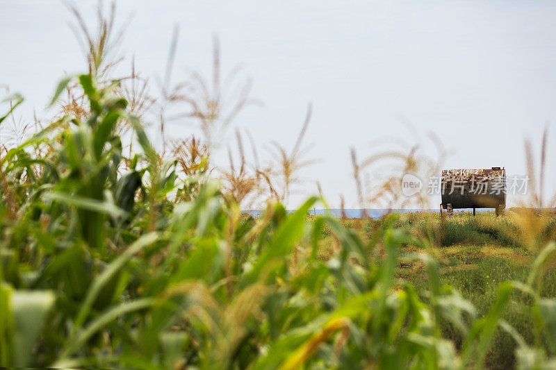
[[[518,344],[518,367],[556,365],[556,299],[539,294],[553,240],[479,317],[439,284],[434,241],[399,215],[366,241],[334,217],[308,219],[319,197],[291,213],[275,201],[243,215],[203,175],[206,160],[184,178],[156,153],[117,82],[65,78],[53,101],[70,83],[90,112],[64,115],[0,161],[1,366],[481,368],[498,328]],[[21,100],[8,97],[10,110]],[[132,158],[122,122],[140,146]],[[340,248],[322,261],[325,228]],[[417,252],[402,255],[407,244]],[[401,257],[426,265],[425,292],[397,278]],[[534,343],[500,319],[512,294],[529,299]],[[442,337],[444,321],[463,335],[459,348]]]

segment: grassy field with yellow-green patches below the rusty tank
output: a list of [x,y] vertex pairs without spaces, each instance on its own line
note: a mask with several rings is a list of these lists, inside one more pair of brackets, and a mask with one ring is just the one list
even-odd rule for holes
[[[523,212],[523,210],[521,211]],[[527,211],[525,211],[527,212]],[[470,301],[477,314],[484,317],[496,301],[498,286],[508,280],[525,283],[532,269],[537,251],[528,249],[527,230],[518,224],[520,210],[510,210],[507,215],[496,217],[494,212],[480,213],[476,217],[471,213],[455,213],[451,217],[414,213],[400,215],[398,225],[414,230],[423,235],[432,230],[436,237],[434,249],[422,251],[417,246],[402,246],[408,255],[418,252],[430,253],[439,262],[440,281],[442,285],[455,287],[461,296]],[[523,215],[523,213],[522,213]],[[523,219],[521,219],[523,221]],[[382,224],[376,219],[344,219],[343,224],[352,228],[362,238],[370,239]],[[435,233],[436,232],[436,233]],[[554,237],[556,219],[545,220],[541,233]],[[320,258],[329,260],[338,247],[331,235],[322,239]],[[379,249],[370,251],[375,261],[382,260]],[[419,292],[427,292],[428,278],[425,264],[414,259],[402,260],[398,264],[398,279],[411,283]],[[556,269],[543,272],[540,294],[544,297],[556,297]],[[427,299],[426,294],[421,294]],[[546,338],[534,337],[534,318],[527,309],[531,300],[523,294],[512,294],[502,317],[520,333],[530,344],[548,346]],[[461,332],[449,321],[443,321],[442,335],[452,340],[457,348],[461,347]],[[514,351],[516,342],[504,330],[496,330],[493,341],[486,353],[485,364],[491,369],[508,369],[515,367]]]

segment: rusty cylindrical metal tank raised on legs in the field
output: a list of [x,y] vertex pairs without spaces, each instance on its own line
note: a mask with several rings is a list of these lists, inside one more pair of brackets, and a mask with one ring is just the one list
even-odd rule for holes
[[441,178],[441,208],[494,208],[496,214],[506,208],[506,170],[445,169]]

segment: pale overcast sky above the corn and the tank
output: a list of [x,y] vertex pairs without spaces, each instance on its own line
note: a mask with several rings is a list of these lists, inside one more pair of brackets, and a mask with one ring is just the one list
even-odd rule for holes
[[[79,2],[91,19],[95,3]],[[523,140],[540,143],[548,122],[547,194],[556,191],[555,1],[126,0],[117,7],[120,22],[133,15],[122,53],[134,54],[152,78],[164,72],[174,24],[177,80],[186,67],[208,71],[218,35],[224,72],[245,65],[252,96],[264,103],[235,121],[261,150],[270,140],[292,146],[313,103],[306,143],[318,162],[303,171],[303,194],[291,205],[316,192],[318,180],[329,205],[338,207],[343,194],[348,208],[359,208],[350,147],[364,158],[387,135],[414,142],[404,122],[440,137],[452,151],[445,168],[500,166],[509,175],[525,174]],[[64,72],[85,71],[72,20],[62,1],[0,0],[0,85],[26,96],[20,115],[30,118],[35,107],[46,117]],[[179,124],[170,130],[191,133]],[[430,144],[425,150],[434,153]],[[508,206],[515,202],[508,197]]]

